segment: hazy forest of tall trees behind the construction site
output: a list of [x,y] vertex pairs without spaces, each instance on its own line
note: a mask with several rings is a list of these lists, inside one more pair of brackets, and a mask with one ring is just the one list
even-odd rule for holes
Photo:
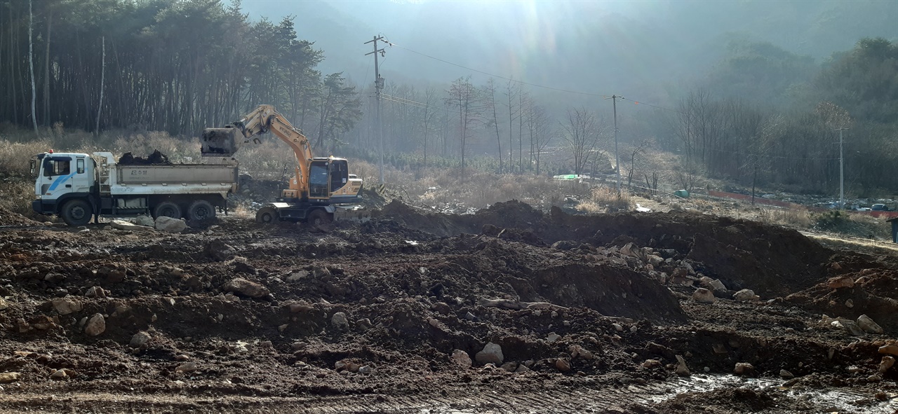
[[[253,21],[240,2],[219,0],[0,0],[0,134],[126,129],[194,140],[264,103],[317,151],[375,160],[373,76],[322,73],[327,51],[304,40],[302,19]],[[894,194],[898,42],[855,40],[815,59],[733,36],[687,88],[617,99],[615,109],[638,108],[616,119],[621,172],[650,182],[654,167],[640,154],[671,151],[683,177],[832,194],[842,134],[846,181],[859,195]],[[560,95],[591,99],[558,99],[542,86],[501,74],[387,82],[386,159],[536,175],[585,174],[613,160],[610,97],[584,86]],[[565,156],[545,160],[549,149]]]

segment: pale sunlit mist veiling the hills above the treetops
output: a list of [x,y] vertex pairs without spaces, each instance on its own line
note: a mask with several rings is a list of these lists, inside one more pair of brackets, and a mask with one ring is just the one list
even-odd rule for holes
[[[546,86],[666,99],[703,79],[733,39],[823,62],[860,38],[898,39],[898,2],[379,2],[244,0],[251,19],[295,16],[324,72],[374,80],[363,45],[386,47],[387,82],[445,84],[483,71]],[[465,69],[448,65],[433,56]],[[471,70],[473,69],[473,70]]]

